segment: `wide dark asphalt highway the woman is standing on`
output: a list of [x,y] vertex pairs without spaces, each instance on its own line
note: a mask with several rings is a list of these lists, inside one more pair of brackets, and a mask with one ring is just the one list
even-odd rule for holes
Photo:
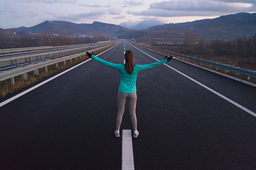
[[[164,58],[126,40],[98,57],[122,64],[127,50],[134,64]],[[119,83],[89,59],[0,99],[0,169],[121,169],[122,130],[133,129],[126,104],[114,136]],[[135,169],[256,169],[254,87],[175,59],[136,86]]]

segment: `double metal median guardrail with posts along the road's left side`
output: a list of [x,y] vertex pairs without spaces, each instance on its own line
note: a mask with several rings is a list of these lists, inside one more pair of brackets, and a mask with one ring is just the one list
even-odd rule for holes
[[[14,77],[15,76],[19,76],[22,75],[22,79],[27,80],[28,76],[27,73],[30,71],[34,72],[34,75],[38,75],[38,69],[40,68],[44,68],[45,67],[45,71],[47,72],[47,66],[52,65],[52,64],[58,64],[60,62],[64,62],[65,65],[65,61],[66,60],[72,60],[73,58],[77,58],[77,57],[81,57],[86,55],[86,52],[97,52],[100,51],[104,48],[109,48],[113,45],[116,45],[120,42],[112,42],[112,43],[108,43],[105,45],[97,45],[97,46],[93,46],[92,48],[78,48],[78,49],[72,49],[69,50],[71,52],[66,52],[64,53],[65,56],[63,55],[63,51],[60,51],[59,53],[61,54],[61,57],[58,57],[57,53],[47,53],[47,54],[40,54],[40,57],[38,58],[38,55],[29,55],[25,57],[25,60],[28,60],[27,62],[29,62],[29,64],[23,64],[23,65],[18,65],[18,67],[14,68],[14,69],[10,69],[10,70],[6,70],[6,71],[0,71],[0,81],[3,80],[7,80],[7,79],[11,79],[11,84],[14,86],[15,82],[14,82]],[[74,54],[73,54],[74,53]],[[56,55],[54,55],[56,54]],[[69,55],[68,55],[69,54]],[[42,58],[42,55],[49,55],[49,57],[46,58]],[[33,58],[35,57],[35,58]],[[16,59],[10,59],[10,58],[5,58],[5,59],[0,59],[0,63],[5,61],[15,61],[15,64],[17,66],[17,60],[21,60],[24,59],[24,56],[20,56],[20,57],[15,57]],[[33,62],[31,62],[33,61]],[[25,61],[23,61],[25,62]]]

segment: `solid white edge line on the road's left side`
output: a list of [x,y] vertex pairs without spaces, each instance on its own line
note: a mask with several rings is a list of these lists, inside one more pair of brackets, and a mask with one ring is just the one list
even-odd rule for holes
[[[117,44],[117,45],[119,45],[119,44]],[[116,45],[116,46],[117,46],[117,45]],[[116,46],[114,46],[114,47],[116,47]],[[114,47],[111,47],[110,49],[112,49],[112,48],[114,48]],[[110,50],[110,49],[108,49],[108,50]],[[106,51],[108,51],[108,50],[106,50]],[[99,56],[99,55],[105,53],[106,51],[104,51],[104,52],[98,54],[97,56]],[[17,98],[23,96],[24,94],[26,94],[26,93],[28,93],[28,92],[30,92],[30,91],[32,91],[32,90],[34,90],[34,89],[36,89],[36,88],[42,86],[43,84],[45,84],[45,83],[47,83],[47,82],[49,82],[49,81],[51,81],[51,80],[53,80],[53,79],[55,79],[55,78],[61,76],[62,74],[65,74],[66,72],[68,72],[68,71],[70,71],[70,70],[72,70],[72,69],[74,69],[74,68],[76,68],[76,67],[78,67],[78,66],[80,66],[80,65],[82,65],[82,64],[84,64],[84,63],[86,63],[86,62],[88,62],[88,61],[90,61],[90,60],[92,60],[92,59],[88,59],[88,60],[86,60],[86,61],[84,61],[84,62],[82,62],[82,63],[80,63],[80,64],[77,64],[76,66],[74,66],[74,67],[72,67],[72,68],[70,68],[70,69],[68,69],[68,70],[66,70],[66,71],[63,71],[62,73],[60,73],[60,74],[58,74],[58,75],[56,75],[56,76],[54,76],[54,77],[52,77],[52,78],[50,78],[50,79],[47,79],[47,80],[43,81],[42,83],[39,83],[38,85],[33,86],[33,87],[31,87],[30,89],[25,90],[24,92],[21,92],[21,93],[17,94],[16,96],[14,96],[14,97],[12,97],[12,98],[10,98],[10,99],[8,99],[8,100],[3,101],[2,103],[0,103],[0,107],[4,106],[5,104],[7,104],[7,103],[9,103],[9,102],[11,102],[11,101],[13,101],[13,100],[15,100],[15,99],[17,99]]]

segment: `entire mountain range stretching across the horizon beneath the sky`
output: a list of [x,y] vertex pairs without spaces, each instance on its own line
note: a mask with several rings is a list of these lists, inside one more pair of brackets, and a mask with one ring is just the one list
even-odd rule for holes
[[[151,27],[154,25],[153,27]],[[125,23],[123,23],[125,26]],[[20,27],[9,29],[16,32],[16,36],[26,36],[37,33],[49,33],[55,35],[82,36],[91,35],[94,32],[123,39],[136,39],[140,37],[153,38],[184,38],[185,32],[193,31],[198,38],[206,40],[235,39],[241,36],[251,36],[256,33],[256,13],[238,13],[221,16],[215,19],[198,20],[194,22],[178,24],[156,25],[153,21],[142,22],[129,29],[120,25],[94,22],[93,24],[75,24],[64,21],[45,21],[33,27]],[[149,27],[149,28],[148,28]],[[146,29],[147,28],[147,29]],[[0,29],[0,36],[7,30]],[[12,33],[11,33],[12,34]]]

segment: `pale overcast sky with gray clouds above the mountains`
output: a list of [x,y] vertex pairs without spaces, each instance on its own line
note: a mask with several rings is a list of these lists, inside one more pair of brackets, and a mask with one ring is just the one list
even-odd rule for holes
[[0,0],[0,28],[32,27],[44,21],[134,26],[157,18],[165,23],[256,13],[256,0]]

